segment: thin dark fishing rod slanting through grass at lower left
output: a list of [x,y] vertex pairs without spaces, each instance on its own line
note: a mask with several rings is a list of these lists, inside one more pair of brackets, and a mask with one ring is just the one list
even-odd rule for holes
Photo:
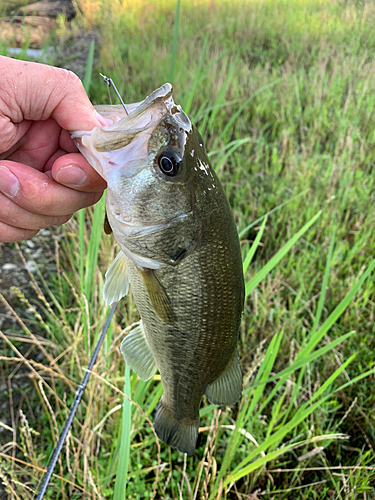
[[57,460],[58,460],[58,458],[60,456],[60,453],[61,453],[61,450],[62,450],[62,448],[64,446],[64,443],[65,443],[65,440],[66,440],[66,436],[68,435],[69,429],[72,426],[73,419],[75,417],[75,414],[77,412],[79,403],[81,401],[83,391],[85,390],[85,387],[86,387],[87,382],[88,382],[88,380],[90,378],[90,375],[91,375],[91,371],[92,371],[92,369],[94,367],[96,358],[98,357],[98,354],[99,354],[100,348],[102,346],[103,340],[104,340],[104,338],[106,336],[106,333],[107,333],[109,324],[111,322],[112,316],[113,316],[113,314],[115,312],[116,306],[117,306],[117,302],[115,302],[112,305],[112,307],[111,307],[111,310],[110,310],[110,312],[108,314],[108,317],[107,317],[107,321],[105,322],[105,325],[104,325],[102,333],[101,333],[101,335],[99,337],[98,343],[96,344],[94,352],[93,352],[93,354],[91,356],[90,363],[88,364],[85,376],[83,377],[82,382],[77,387],[76,395],[74,397],[73,404],[72,404],[72,406],[70,408],[69,417],[68,417],[67,421],[65,422],[64,428],[63,428],[63,430],[61,432],[61,435],[60,435],[60,439],[59,439],[59,441],[58,441],[58,443],[56,445],[56,448],[55,448],[55,450],[53,452],[51,461],[50,461],[50,463],[48,465],[47,472],[46,472],[46,474],[45,474],[45,476],[43,478],[43,482],[42,482],[42,484],[40,486],[40,489],[39,489],[39,492],[38,492],[38,496],[36,497],[36,500],[43,500],[43,498],[44,498],[44,495],[46,493],[46,490],[47,490],[48,484],[50,482],[51,476],[52,476],[53,471],[55,469]]

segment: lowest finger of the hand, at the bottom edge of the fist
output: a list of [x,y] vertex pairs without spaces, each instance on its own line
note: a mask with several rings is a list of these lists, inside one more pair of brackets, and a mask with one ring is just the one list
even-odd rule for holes
[[0,222],[19,229],[39,231],[44,227],[58,226],[68,222],[72,214],[63,216],[39,215],[20,207],[0,193]]

